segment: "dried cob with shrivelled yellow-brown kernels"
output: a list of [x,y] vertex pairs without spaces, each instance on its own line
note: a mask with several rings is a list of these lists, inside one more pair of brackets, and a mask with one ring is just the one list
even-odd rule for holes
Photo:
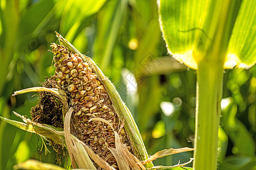
[[101,121],[103,118],[119,131],[121,141],[131,151],[131,145],[121,122],[114,111],[108,94],[94,73],[90,63],[84,62],[77,53],[70,52],[63,45],[52,44],[53,60],[56,67],[58,86],[69,98],[69,106],[74,108],[71,124],[72,134],[105,159],[112,167],[118,168],[116,160],[107,147],[115,147],[114,131]]

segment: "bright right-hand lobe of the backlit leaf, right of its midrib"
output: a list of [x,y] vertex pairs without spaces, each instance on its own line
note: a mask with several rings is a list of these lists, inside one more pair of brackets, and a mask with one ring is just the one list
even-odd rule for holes
[[228,46],[226,67],[249,68],[256,62],[256,1],[244,0]]

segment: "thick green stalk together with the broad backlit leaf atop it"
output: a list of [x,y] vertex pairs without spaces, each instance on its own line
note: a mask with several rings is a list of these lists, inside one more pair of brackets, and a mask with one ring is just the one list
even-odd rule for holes
[[217,168],[224,69],[256,62],[256,1],[158,1],[169,53],[197,70],[193,167]]

